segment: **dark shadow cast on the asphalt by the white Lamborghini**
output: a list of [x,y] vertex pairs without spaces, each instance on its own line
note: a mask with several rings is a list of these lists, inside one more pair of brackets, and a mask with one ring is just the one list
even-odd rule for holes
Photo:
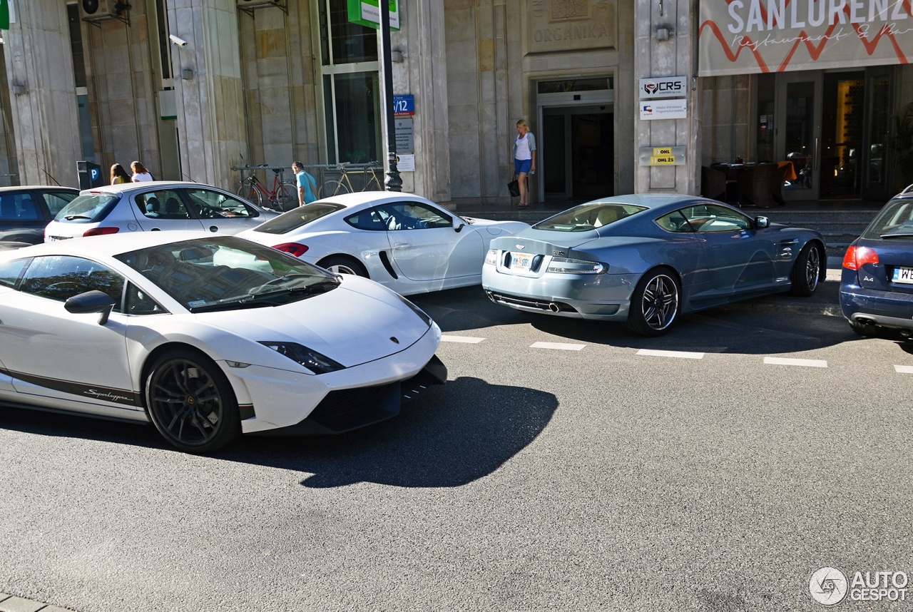
[[329,438],[245,437],[218,458],[310,472],[301,484],[315,489],[356,482],[459,487],[526,448],[557,408],[551,393],[464,376],[373,427]]

